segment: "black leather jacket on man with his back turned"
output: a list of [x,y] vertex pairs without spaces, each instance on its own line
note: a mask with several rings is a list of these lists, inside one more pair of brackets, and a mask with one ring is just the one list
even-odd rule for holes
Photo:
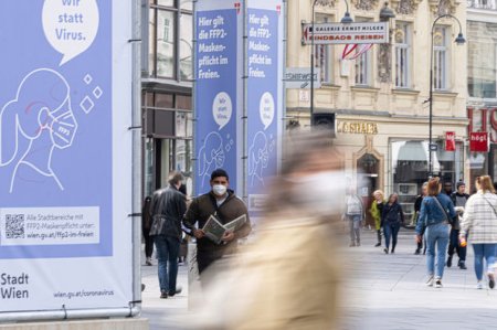
[[187,212],[187,198],[173,185],[154,193],[150,203],[152,224],[150,236],[166,235],[181,238],[181,220]]

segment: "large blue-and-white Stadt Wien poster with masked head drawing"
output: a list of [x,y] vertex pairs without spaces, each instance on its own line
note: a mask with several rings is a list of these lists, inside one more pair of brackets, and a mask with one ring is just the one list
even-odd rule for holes
[[0,1],[0,312],[133,299],[131,139],[116,138],[131,6],[116,3]]

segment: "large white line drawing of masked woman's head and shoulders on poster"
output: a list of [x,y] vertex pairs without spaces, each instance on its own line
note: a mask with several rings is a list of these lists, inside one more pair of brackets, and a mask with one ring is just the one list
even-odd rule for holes
[[50,68],[28,74],[15,99],[0,110],[0,168],[12,173],[9,192],[21,180],[42,183],[46,178],[64,190],[52,156],[72,146],[76,130],[65,78]]

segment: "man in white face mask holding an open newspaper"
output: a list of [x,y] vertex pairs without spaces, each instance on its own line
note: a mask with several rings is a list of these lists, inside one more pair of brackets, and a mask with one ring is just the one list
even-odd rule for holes
[[[245,203],[229,189],[230,178],[226,171],[222,169],[213,171],[210,184],[211,191],[193,199],[183,217],[183,231],[197,238],[199,274],[224,255],[235,253],[237,239],[246,237],[252,230]],[[205,225],[211,215],[226,224],[243,214],[246,215],[245,224],[235,232],[226,232],[221,244],[215,244],[199,230]]]

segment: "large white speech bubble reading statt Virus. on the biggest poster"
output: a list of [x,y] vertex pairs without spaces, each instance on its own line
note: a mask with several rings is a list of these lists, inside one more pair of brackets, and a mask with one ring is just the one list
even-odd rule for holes
[[98,32],[95,0],[45,0],[42,23],[45,38],[61,53],[60,65],[85,52]]

